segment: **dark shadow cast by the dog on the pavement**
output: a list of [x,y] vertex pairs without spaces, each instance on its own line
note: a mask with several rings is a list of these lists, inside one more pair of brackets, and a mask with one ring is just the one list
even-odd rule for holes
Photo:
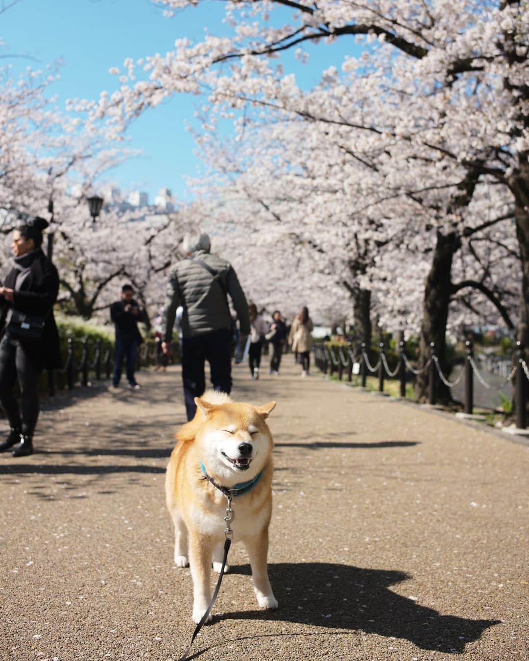
[[[251,574],[251,570],[249,565],[239,565],[232,566],[230,573]],[[466,643],[477,641],[485,629],[500,623],[440,615],[395,594],[389,586],[411,578],[403,572],[345,564],[278,563],[268,565],[268,575],[278,610],[225,613],[220,619],[268,619],[365,631],[452,654],[464,652]]]

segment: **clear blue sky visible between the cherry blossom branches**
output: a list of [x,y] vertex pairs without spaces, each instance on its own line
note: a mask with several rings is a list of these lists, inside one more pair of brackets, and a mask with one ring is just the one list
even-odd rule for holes
[[[103,89],[116,87],[117,78],[108,69],[121,67],[126,57],[165,53],[183,36],[200,40],[204,28],[211,34],[225,33],[223,5],[200,3],[165,19],[151,0],[20,0],[0,15],[2,54],[23,54],[31,59],[9,57],[3,64],[22,70],[28,65],[44,67],[61,58],[61,79],[52,88],[60,102],[69,97],[97,98]],[[307,65],[292,54],[283,59],[286,69],[296,73],[305,88],[317,83],[323,69],[339,66],[358,47],[350,38],[309,52]],[[129,131],[129,145],[143,154],[114,169],[108,178],[125,190],[146,190],[150,201],[162,186],[171,188],[180,200],[189,199],[184,176],[196,176],[200,160],[193,154],[194,143],[185,122],[192,122],[199,105],[198,97],[179,95],[136,120]]]

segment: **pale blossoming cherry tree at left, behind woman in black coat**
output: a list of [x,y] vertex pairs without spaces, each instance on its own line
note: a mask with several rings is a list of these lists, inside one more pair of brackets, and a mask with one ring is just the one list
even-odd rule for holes
[[[97,223],[87,197],[111,167],[132,152],[121,136],[101,122],[60,112],[50,95],[52,69],[13,78],[0,73],[0,222],[9,235],[26,215],[52,211],[48,235],[56,238],[54,261],[61,278],[59,304],[90,318],[116,295],[120,278],[145,296],[149,309],[161,302],[161,278],[181,241],[179,219],[144,217],[106,205]],[[53,206],[50,206],[50,203]],[[11,268],[9,237],[1,251],[2,270]],[[148,291],[147,291],[148,290]]]

